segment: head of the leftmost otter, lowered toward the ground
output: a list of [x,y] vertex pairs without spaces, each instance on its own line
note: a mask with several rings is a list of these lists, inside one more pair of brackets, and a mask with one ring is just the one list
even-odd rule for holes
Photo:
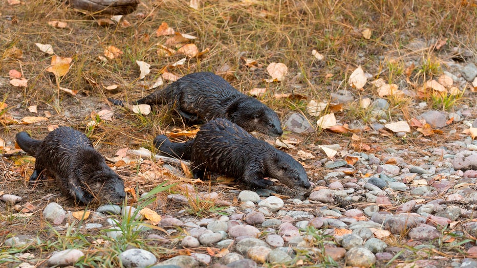
[[98,172],[98,176],[95,177],[95,186],[99,191],[93,189],[93,193],[106,202],[122,203],[126,197],[124,181],[111,169]]

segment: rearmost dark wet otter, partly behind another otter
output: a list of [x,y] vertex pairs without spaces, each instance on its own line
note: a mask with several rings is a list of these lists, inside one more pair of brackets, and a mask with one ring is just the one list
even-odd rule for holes
[[[108,100],[114,105],[124,104],[120,100]],[[188,74],[163,90],[132,103],[168,104],[189,123],[201,124],[215,118],[227,118],[249,132],[258,131],[270,137],[283,134],[275,111],[209,72]]]

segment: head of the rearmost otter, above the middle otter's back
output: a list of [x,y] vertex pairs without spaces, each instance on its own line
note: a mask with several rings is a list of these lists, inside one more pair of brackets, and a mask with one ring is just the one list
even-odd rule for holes
[[258,131],[270,137],[281,136],[283,130],[277,114],[264,104],[260,104],[256,109],[250,107],[238,109],[240,113],[233,118],[233,122],[248,132]]

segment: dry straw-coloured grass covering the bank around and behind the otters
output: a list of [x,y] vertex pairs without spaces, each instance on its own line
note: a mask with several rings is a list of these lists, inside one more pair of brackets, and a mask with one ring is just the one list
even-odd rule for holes
[[[180,118],[171,114],[166,107],[153,108],[148,116],[133,115],[129,111],[114,107],[113,122],[101,121],[94,128],[86,127],[92,120],[92,111],[107,108],[106,97],[137,99],[150,93],[138,81],[139,68],[136,60],[151,64],[147,82],[154,82],[161,71],[183,55],[162,57],[157,54],[158,43],[163,44],[168,37],[157,37],[155,32],[163,21],[181,33],[197,36],[193,41],[200,51],[209,49],[202,58],[190,58],[179,68],[168,68],[178,75],[192,72],[219,72],[228,65],[233,71],[230,82],[242,92],[253,87],[266,87],[268,93],[259,99],[270,105],[282,119],[291,111],[305,111],[307,101],[275,99],[275,93],[296,93],[308,99],[329,100],[330,95],[341,89],[349,89],[348,78],[356,66],[361,65],[373,79],[384,78],[389,83],[406,85],[404,70],[409,62],[416,63],[411,78],[422,83],[425,79],[440,75],[447,68],[448,60],[455,55],[452,48],[464,48],[477,53],[476,17],[477,9],[472,1],[204,1],[203,8],[193,10],[188,1],[142,1],[136,12],[124,16],[131,26],[98,26],[97,19],[70,9],[63,1],[26,1],[25,5],[8,6],[4,3],[0,10],[0,95],[5,96],[9,105],[8,113],[15,118],[32,116],[26,107],[37,105],[39,114],[50,111],[48,123],[35,125],[2,125],[1,138],[12,146],[14,135],[20,130],[28,130],[33,137],[44,137],[48,124],[69,125],[84,131],[94,141],[96,148],[112,157],[118,148],[150,147],[151,141],[159,133],[173,127],[186,128]],[[455,3],[454,3],[455,2]],[[68,23],[66,29],[56,29],[47,23],[61,20]],[[371,29],[371,39],[364,39],[361,31]],[[439,38],[447,38],[441,50],[432,50],[431,45]],[[415,49],[413,44],[422,41],[424,48]],[[35,43],[52,44],[55,53],[73,58],[69,73],[60,85],[79,92],[73,97],[60,92],[55,77],[46,72],[51,60],[40,52]],[[115,46],[124,54],[118,58],[102,62],[107,46]],[[18,57],[13,48],[23,52]],[[311,54],[317,50],[325,55],[317,61]],[[256,60],[261,68],[250,69],[243,58]],[[289,72],[281,83],[265,83],[268,78],[266,66],[271,62],[283,62]],[[9,84],[8,72],[16,69],[29,79],[28,87],[19,88]],[[230,77],[229,77],[230,78]],[[104,86],[117,84],[118,90],[109,91]],[[345,105],[337,117],[343,123],[368,124],[371,115],[358,107],[361,96],[376,98],[372,87],[363,92],[353,92],[356,101]],[[462,96],[470,105],[475,100]],[[55,100],[59,96],[59,105]],[[410,119],[416,115],[413,106],[422,100],[388,98],[391,108],[385,119]],[[431,100],[428,100],[431,102]],[[449,102],[450,100],[442,100]],[[458,104],[450,103],[449,110]],[[439,103],[438,103],[439,105]],[[441,103],[441,105],[444,105]],[[59,112],[59,113],[58,113]],[[311,122],[316,119],[309,116]],[[287,138],[294,135],[287,134]],[[300,148],[311,144],[339,143],[346,147],[349,137],[330,132],[296,136],[302,140]],[[363,134],[363,140],[366,140]],[[394,138],[389,142],[396,142]],[[399,142],[398,142],[399,143]],[[373,145],[374,152],[380,152],[381,144]],[[289,151],[295,154],[294,151]],[[318,152],[317,152],[318,153]],[[322,158],[323,156],[320,155]],[[23,177],[31,173],[32,164],[27,166],[18,159],[0,160],[3,173],[0,189],[19,195],[34,196],[40,208],[46,204],[41,197],[49,192],[47,188],[33,191],[26,187]],[[322,169],[310,162],[306,163],[311,174],[321,174]],[[154,163],[151,164],[154,166]],[[151,165],[131,165],[119,169],[126,178],[127,186],[147,191],[154,182],[141,181],[138,173]],[[312,180],[318,180],[313,177]],[[210,191],[209,187],[206,191]],[[15,189],[20,189],[15,191]],[[213,189],[213,188],[212,188]],[[56,192],[56,190],[51,190]],[[66,198],[61,198],[66,202]],[[201,211],[201,204],[190,200],[193,211]],[[8,210],[2,220],[9,218],[11,208],[0,204],[0,209]],[[208,207],[206,210],[213,208]],[[199,206],[199,207],[194,207]],[[205,206],[205,205],[204,205]],[[201,211],[202,213],[202,211]],[[38,215],[39,213],[36,213]],[[17,220],[17,219],[15,219]],[[38,224],[45,228],[38,217],[23,219],[19,225],[9,227],[13,232],[19,226]],[[10,221],[10,223],[12,223]],[[39,230],[40,230],[39,229]],[[6,234],[0,234],[4,236]],[[396,243],[399,243],[397,241]]]

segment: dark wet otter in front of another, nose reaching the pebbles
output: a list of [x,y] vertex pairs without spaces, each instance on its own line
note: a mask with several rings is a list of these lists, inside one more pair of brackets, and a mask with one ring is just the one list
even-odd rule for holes
[[196,176],[210,171],[233,176],[254,187],[273,184],[264,177],[276,178],[293,190],[305,191],[311,186],[303,166],[288,153],[256,139],[224,118],[204,124],[193,140],[173,143],[159,135],[154,145],[161,153],[191,160],[198,166],[194,170]]

